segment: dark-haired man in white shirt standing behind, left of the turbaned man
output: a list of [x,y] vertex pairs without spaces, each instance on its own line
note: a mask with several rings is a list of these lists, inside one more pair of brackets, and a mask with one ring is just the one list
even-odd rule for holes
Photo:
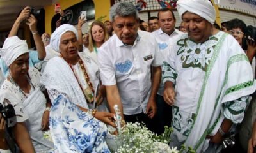
[[[158,12],[160,29],[152,32],[156,36],[159,50],[163,57],[172,52],[172,45],[177,43],[177,38],[184,34],[181,31],[175,29],[176,18],[173,11],[168,8],[163,8]],[[156,104],[156,129],[157,133],[161,134],[164,132],[164,126],[171,126],[172,121],[172,107],[164,102],[163,99],[164,84],[163,77],[157,91]]]

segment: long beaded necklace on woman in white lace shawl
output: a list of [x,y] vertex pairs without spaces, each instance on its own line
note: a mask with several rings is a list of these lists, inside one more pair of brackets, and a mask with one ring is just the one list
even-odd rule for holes
[[[90,90],[92,91],[92,94],[93,94],[93,93],[95,92],[95,90],[93,89],[93,84],[92,84],[92,82],[90,81],[90,77],[89,77],[89,75],[88,75],[88,73],[87,73],[87,71],[86,71],[86,68],[85,68],[85,66],[84,66],[84,63],[83,63],[83,61],[81,60],[81,58],[79,57],[79,55],[78,55],[78,62],[79,62],[80,66],[81,66],[81,69],[82,69],[82,71],[83,71],[83,73],[84,73],[84,78],[85,78],[85,80],[86,80],[86,82],[87,82],[88,86],[90,87]],[[79,79],[78,79],[78,77],[76,76],[76,73],[75,73],[74,69],[72,68],[72,64],[68,63],[68,65],[69,65],[70,68],[72,69],[72,71],[73,71],[73,73],[74,73],[74,76],[76,77],[76,80],[77,80],[77,82],[78,82],[78,84],[79,84],[81,90],[82,90],[83,93],[84,93],[83,87],[82,87],[82,85],[80,84]],[[84,94],[85,94],[85,93],[84,93]],[[85,96],[86,96],[86,98],[87,98],[87,95],[85,95]],[[92,95],[92,98],[93,98],[93,95]]]

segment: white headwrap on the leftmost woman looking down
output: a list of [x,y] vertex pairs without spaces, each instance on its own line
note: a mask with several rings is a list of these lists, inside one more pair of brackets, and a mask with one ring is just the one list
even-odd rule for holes
[[28,45],[25,40],[20,40],[17,36],[6,38],[0,55],[5,64],[9,67],[20,55],[28,53]]

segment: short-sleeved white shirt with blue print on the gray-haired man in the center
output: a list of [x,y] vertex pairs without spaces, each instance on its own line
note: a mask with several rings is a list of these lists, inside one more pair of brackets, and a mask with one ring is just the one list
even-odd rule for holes
[[154,35],[138,31],[134,45],[114,34],[98,52],[104,85],[117,85],[125,115],[145,112],[151,92],[151,66],[163,63]]

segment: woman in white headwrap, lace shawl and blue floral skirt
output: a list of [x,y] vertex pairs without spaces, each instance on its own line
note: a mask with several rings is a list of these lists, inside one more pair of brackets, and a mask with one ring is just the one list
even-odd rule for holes
[[58,152],[110,152],[105,142],[106,124],[115,126],[114,114],[88,108],[99,70],[90,57],[78,54],[77,35],[74,26],[63,24],[51,36],[51,47],[61,57],[47,63],[41,83],[52,101],[52,140]]

